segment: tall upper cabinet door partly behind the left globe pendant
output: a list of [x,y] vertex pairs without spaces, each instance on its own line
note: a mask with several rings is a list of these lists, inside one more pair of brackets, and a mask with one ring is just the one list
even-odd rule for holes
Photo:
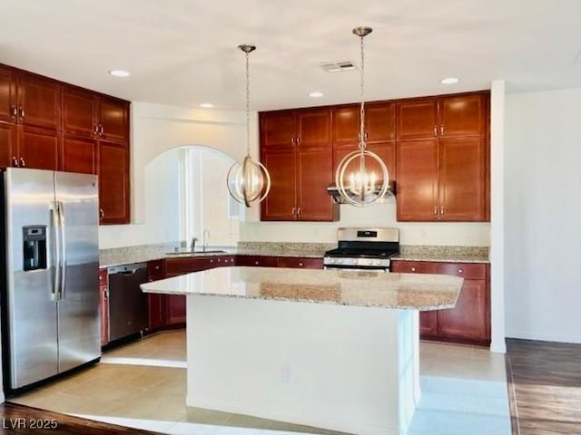
[[271,192],[261,202],[261,220],[295,220],[297,218],[295,150],[263,150],[261,160],[271,174]]

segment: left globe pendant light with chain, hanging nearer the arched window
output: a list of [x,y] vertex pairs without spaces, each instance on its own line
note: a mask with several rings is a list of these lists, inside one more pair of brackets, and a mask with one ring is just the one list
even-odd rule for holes
[[246,157],[237,161],[228,171],[227,185],[232,198],[246,207],[261,202],[271,190],[271,176],[260,161],[251,158],[250,132],[250,73],[248,55],[256,47],[254,45],[239,45],[238,48],[246,56]]

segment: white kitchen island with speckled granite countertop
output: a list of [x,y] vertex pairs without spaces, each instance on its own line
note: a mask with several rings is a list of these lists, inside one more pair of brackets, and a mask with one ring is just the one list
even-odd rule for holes
[[361,435],[406,433],[419,401],[418,312],[462,279],[222,267],[142,285],[187,295],[186,405]]

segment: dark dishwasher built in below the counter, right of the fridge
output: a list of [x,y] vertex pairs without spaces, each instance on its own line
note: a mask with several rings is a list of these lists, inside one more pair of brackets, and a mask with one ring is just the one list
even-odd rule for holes
[[147,327],[147,263],[107,268],[109,277],[109,341],[141,333]]

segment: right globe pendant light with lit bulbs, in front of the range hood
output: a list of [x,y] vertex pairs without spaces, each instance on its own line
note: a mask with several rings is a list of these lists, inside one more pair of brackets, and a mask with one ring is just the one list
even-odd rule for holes
[[[359,150],[353,151],[340,161],[335,172],[335,184],[340,196],[348,204],[356,207],[366,207],[382,198],[389,187],[389,172],[383,160],[377,154],[367,150],[365,142],[365,101],[364,101],[364,68],[365,57],[363,38],[370,34],[371,27],[356,27],[353,34],[359,36],[361,49],[360,88],[361,106],[359,110]],[[375,161],[379,165],[380,174],[369,171],[369,163]]]

